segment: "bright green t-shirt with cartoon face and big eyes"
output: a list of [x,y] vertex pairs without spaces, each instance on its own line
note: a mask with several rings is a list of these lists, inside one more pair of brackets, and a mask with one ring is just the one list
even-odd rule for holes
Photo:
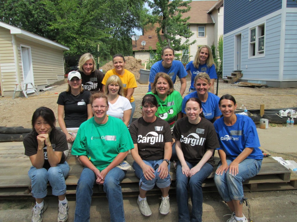
[[174,90],[166,97],[165,101],[160,99],[158,94],[153,94],[153,92],[148,92],[147,94],[152,94],[156,97],[157,102],[160,105],[156,112],[156,116],[169,123],[172,132],[175,121],[177,120],[177,114],[181,112],[181,103],[183,101],[181,94]]

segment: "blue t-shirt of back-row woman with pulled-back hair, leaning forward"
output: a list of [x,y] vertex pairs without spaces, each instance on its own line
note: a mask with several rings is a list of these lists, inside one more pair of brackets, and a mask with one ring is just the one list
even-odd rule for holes
[[[184,68],[184,65],[181,63],[181,61],[176,61],[173,60],[172,61],[172,65],[169,69],[165,69],[162,65],[162,61],[158,61],[156,62],[154,65],[152,65],[151,67],[151,71],[149,73],[149,82],[153,83],[155,80],[155,76],[157,73],[159,72],[163,72],[163,73],[167,73],[170,78],[173,81],[173,84],[176,81],[176,76],[178,76],[178,78],[184,78],[187,76],[187,71]],[[149,92],[151,91],[151,84],[149,84]]]

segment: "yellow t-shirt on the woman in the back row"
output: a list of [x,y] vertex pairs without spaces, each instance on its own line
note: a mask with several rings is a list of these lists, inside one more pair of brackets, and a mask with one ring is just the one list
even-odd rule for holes
[[[102,84],[106,85],[105,83],[111,75],[117,75],[120,77],[120,79],[123,83],[124,95],[127,96],[127,90],[131,89],[131,88],[136,88],[137,83],[136,83],[134,74],[129,72],[126,69],[124,69],[124,70],[125,70],[124,75],[119,75],[118,73],[116,73],[116,69],[111,69],[111,70],[107,71],[103,80],[102,80]],[[105,90],[108,90],[107,87],[105,87]],[[130,102],[134,102],[133,95],[131,96]]]

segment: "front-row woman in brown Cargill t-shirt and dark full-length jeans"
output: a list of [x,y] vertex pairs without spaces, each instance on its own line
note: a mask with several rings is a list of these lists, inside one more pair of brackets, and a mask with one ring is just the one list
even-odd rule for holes
[[[203,118],[201,101],[190,98],[185,106],[187,117],[176,121],[173,129],[176,164],[178,221],[202,221],[202,183],[214,167],[214,149],[219,147],[213,124]],[[188,191],[192,213],[188,208]]]

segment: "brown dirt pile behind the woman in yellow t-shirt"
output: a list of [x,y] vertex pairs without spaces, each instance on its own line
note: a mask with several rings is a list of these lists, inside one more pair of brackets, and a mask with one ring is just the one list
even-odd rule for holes
[[[138,81],[140,75],[139,70],[144,69],[144,66],[141,64],[141,59],[135,59],[133,56],[126,56],[124,58],[126,62],[125,69],[133,73],[135,75],[136,81]],[[113,62],[110,61],[99,69],[102,69],[103,72],[106,73],[108,70],[111,70],[113,68]]]

